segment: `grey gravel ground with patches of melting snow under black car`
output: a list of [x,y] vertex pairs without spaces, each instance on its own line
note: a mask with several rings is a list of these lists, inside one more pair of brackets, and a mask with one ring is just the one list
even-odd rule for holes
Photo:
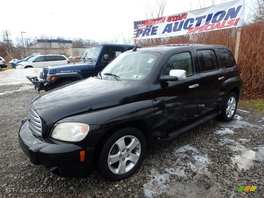
[[[210,120],[149,150],[140,169],[119,182],[95,171],[62,178],[31,164],[18,144],[21,119],[37,95],[0,86],[0,197],[264,197],[261,115],[238,110],[229,123]],[[238,192],[239,186],[257,188]]]

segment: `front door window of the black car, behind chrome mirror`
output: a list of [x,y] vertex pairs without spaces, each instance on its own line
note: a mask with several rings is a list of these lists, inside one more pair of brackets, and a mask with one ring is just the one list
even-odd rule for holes
[[194,66],[189,52],[174,54],[169,58],[165,66],[167,75],[169,75],[169,71],[172,69],[183,69],[186,71],[187,76],[194,74]]

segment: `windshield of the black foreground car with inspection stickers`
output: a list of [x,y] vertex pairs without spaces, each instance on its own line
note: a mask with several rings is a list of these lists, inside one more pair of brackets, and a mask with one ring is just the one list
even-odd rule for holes
[[[102,79],[116,80],[113,74],[122,80],[142,80],[153,69],[158,58],[157,52],[134,51],[122,53],[110,62],[102,71]],[[98,76],[98,78],[101,78]]]

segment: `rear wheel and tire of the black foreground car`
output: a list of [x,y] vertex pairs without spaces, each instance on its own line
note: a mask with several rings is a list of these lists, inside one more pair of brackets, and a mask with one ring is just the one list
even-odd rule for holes
[[230,122],[237,111],[237,95],[234,92],[228,94],[225,99],[221,119],[225,122]]

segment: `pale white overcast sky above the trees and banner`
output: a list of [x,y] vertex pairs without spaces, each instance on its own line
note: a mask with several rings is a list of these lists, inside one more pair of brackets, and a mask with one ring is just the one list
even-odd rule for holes
[[[65,39],[81,37],[98,42],[119,38],[122,44],[123,36],[126,40],[133,37],[133,22],[150,17],[149,8],[157,6],[161,0],[96,0],[96,1],[1,1],[1,32],[8,30],[11,39],[40,37],[41,34],[60,36]],[[200,0],[201,7],[230,2],[232,0]],[[254,1],[254,0],[252,0]],[[200,9],[198,0],[167,0],[163,16],[179,14]],[[251,0],[245,3],[245,20],[250,8]],[[148,13],[146,16],[146,12]],[[154,12],[154,17],[157,14]],[[2,33],[3,34],[3,33]],[[123,35],[123,36],[122,36]],[[0,37],[2,41],[2,37]]]

